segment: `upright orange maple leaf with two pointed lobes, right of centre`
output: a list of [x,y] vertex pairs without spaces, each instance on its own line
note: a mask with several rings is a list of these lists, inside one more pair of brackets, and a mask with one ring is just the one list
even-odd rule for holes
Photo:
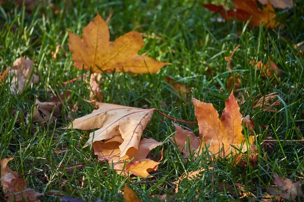
[[[200,138],[209,144],[209,151],[217,156],[229,156],[236,154],[242,143],[245,142],[245,136],[242,134],[242,115],[236,98],[231,92],[229,98],[225,101],[225,109],[219,119],[219,115],[211,103],[203,103],[200,100],[192,98],[195,107],[195,116],[198,119]],[[249,145],[254,142],[254,136],[249,136]],[[236,148],[232,147],[235,146]],[[221,153],[219,153],[219,151]],[[242,146],[242,151],[246,151],[247,146]]]

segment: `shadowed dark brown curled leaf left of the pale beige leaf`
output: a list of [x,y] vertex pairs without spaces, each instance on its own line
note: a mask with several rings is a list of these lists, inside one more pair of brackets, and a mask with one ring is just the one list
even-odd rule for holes
[[53,102],[40,102],[38,99],[36,99],[32,122],[43,125],[45,123],[49,123],[51,120],[50,123],[53,123],[61,116],[61,110],[62,105],[60,104]]

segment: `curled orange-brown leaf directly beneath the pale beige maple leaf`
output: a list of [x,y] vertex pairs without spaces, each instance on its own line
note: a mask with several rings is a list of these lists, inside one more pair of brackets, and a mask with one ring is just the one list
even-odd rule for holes
[[149,172],[156,170],[160,163],[147,159],[147,156],[150,150],[159,146],[161,142],[143,138],[139,142],[138,149],[129,148],[126,155],[121,158],[119,146],[122,142],[123,139],[119,136],[105,142],[95,141],[93,143],[94,154],[98,156],[99,160],[107,160],[117,173],[122,173],[124,176],[133,174],[147,177]]

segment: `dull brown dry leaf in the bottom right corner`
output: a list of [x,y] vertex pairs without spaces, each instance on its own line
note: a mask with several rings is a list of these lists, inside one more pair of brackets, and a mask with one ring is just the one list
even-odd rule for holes
[[285,178],[284,180],[280,176],[274,174],[275,185],[267,188],[267,192],[274,195],[280,195],[284,199],[294,200],[297,196],[302,197],[301,181],[292,182],[291,179]]

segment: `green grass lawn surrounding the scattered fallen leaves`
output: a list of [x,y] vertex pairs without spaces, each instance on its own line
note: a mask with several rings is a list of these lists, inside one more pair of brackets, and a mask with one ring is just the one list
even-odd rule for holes
[[[0,158],[15,156],[9,165],[20,175],[85,162],[86,167],[72,172],[66,172],[68,168],[57,169],[23,178],[28,187],[36,191],[56,190],[86,201],[98,198],[122,201],[123,195],[119,190],[123,189],[124,184],[138,181],[145,183],[134,184],[131,188],[138,192],[143,201],[154,200],[150,194],[173,195],[177,201],[260,200],[266,193],[264,187],[274,183],[274,173],[293,181],[301,180],[303,184],[303,142],[274,142],[272,148],[266,148],[263,140],[267,136],[276,140],[303,138],[304,58],[294,48],[293,42],[304,43],[304,3],[298,0],[295,1],[296,8],[278,10],[281,25],[276,29],[250,27],[238,21],[213,22],[212,19],[218,15],[208,12],[200,3],[181,0],[54,1],[60,11],[58,14],[50,6],[38,8],[31,14],[10,3],[0,7],[1,71],[12,66],[17,58],[25,57],[34,61],[34,69],[40,75],[38,84],[17,96],[10,93],[9,82],[0,87]],[[164,67],[157,74],[102,75],[104,81],[101,88],[105,103],[157,108],[171,117],[196,121],[191,95],[184,100],[174,93],[165,82],[165,77],[170,76],[187,87],[193,87],[194,97],[212,103],[221,113],[224,100],[231,92],[226,87],[230,73],[224,57],[230,56],[233,49],[241,45],[233,57],[232,69],[241,77],[241,88],[236,90],[245,98],[240,105],[241,113],[253,117],[255,133],[259,134],[256,142],[259,156],[255,167],[232,167],[231,158],[212,163],[207,154],[183,163],[177,147],[168,140],[174,132],[173,122],[157,113],[143,133],[144,137],[162,141],[164,146],[164,159],[158,172],[153,173],[151,178],[125,178],[116,174],[107,163],[92,164],[98,162],[97,157],[90,147],[82,148],[88,139],[88,132],[60,129],[69,123],[66,116],[71,108],[68,104],[78,105],[77,117],[93,110],[90,104],[82,100],[89,98],[88,78],[63,85],[64,81],[88,73],[72,66],[66,29],[81,35],[83,28],[97,13],[105,19],[111,12],[114,12],[108,23],[111,40],[132,30],[159,36],[162,40],[144,38],[145,46],[140,53],[147,52],[149,57],[172,65]],[[51,53],[58,44],[61,48],[53,61]],[[268,58],[282,70],[280,77],[265,79],[248,61],[267,63]],[[211,74],[207,72],[208,68]],[[67,90],[71,91],[71,98],[63,104],[63,118],[45,126],[31,124],[31,116],[28,123],[24,121],[22,112],[32,112],[35,98],[46,101],[50,94]],[[276,112],[253,109],[256,95],[272,92],[277,92],[283,103],[276,106]],[[163,105],[164,102],[168,107]],[[12,113],[13,110],[19,113]],[[17,120],[21,120],[21,123],[17,123]],[[268,129],[262,131],[261,124]],[[198,134],[197,125],[191,127]],[[247,129],[244,132],[249,133]],[[57,149],[66,151],[57,155],[54,153]],[[160,149],[158,147],[153,154]],[[210,166],[214,170],[203,172],[195,180],[183,180],[179,192],[174,193],[173,182],[182,173]],[[220,182],[232,185],[235,194],[219,187]],[[242,184],[251,194],[240,199],[234,183]],[[0,194],[3,196],[3,191]],[[58,199],[59,196],[54,193],[41,197],[44,201]]]

